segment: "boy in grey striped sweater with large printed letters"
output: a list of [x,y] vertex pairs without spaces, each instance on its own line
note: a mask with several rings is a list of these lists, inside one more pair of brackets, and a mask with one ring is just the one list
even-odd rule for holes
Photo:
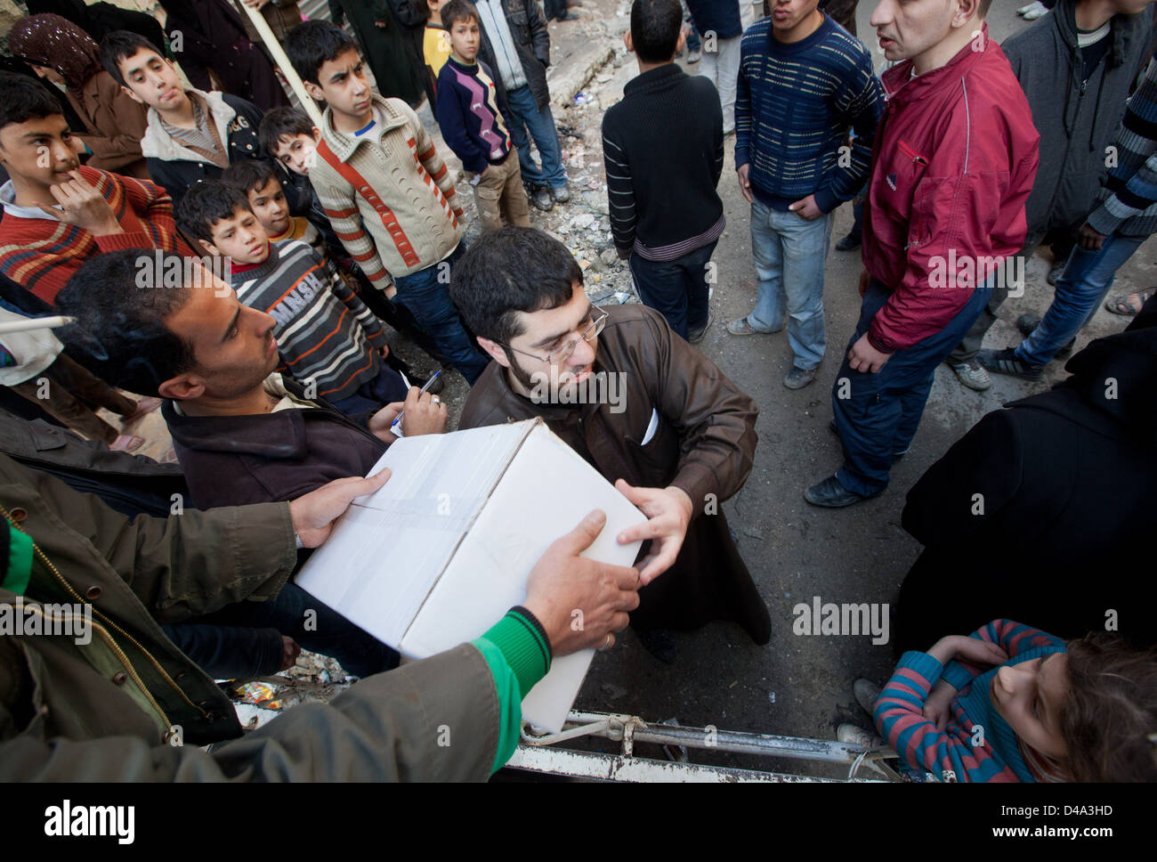
[[406,382],[383,361],[382,324],[345,281],[331,281],[309,245],[271,243],[244,192],[202,180],[185,193],[177,220],[206,252],[230,261],[238,301],[273,317],[282,370],[307,397],[344,413],[405,399]]

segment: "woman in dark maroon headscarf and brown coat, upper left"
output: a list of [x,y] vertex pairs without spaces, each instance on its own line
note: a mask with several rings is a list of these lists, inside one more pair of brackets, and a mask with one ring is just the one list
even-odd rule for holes
[[87,32],[59,15],[29,15],[13,25],[8,46],[37,75],[65,87],[84,124],[73,132],[93,154],[89,167],[148,178],[141,155],[145,106],[104,71]]

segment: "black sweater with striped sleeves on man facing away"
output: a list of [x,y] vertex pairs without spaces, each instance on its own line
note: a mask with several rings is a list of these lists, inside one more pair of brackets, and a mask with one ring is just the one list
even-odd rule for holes
[[706,78],[668,64],[632,79],[603,117],[603,157],[617,248],[672,260],[723,233],[723,110]]

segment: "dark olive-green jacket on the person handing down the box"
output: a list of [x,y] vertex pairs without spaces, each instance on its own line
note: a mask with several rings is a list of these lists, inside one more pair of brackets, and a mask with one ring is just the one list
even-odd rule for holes
[[[296,560],[288,503],[130,520],[0,456],[0,515],[36,543],[25,603],[93,605],[87,644],[0,638],[0,779],[491,774],[500,703],[486,660],[469,644],[364,679],[329,705],[294,707],[212,753],[196,747],[241,728],[160,622],[274,597]],[[16,599],[0,589],[0,605]],[[451,745],[439,744],[443,725]]]

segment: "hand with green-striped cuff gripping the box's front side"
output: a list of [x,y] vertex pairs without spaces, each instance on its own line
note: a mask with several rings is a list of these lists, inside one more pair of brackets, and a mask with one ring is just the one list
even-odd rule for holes
[[596,509],[574,530],[557,539],[526,579],[523,606],[535,614],[551,640],[555,656],[614,644],[639,606],[639,572],[578,554],[590,547],[606,524]]

